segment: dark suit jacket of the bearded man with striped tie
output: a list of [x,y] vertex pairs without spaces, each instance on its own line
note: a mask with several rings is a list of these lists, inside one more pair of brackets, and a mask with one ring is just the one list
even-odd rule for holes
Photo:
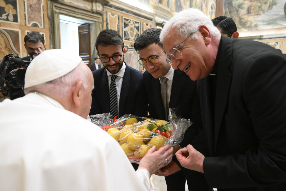
[[[92,105],[90,115],[110,112],[110,97],[108,76],[105,68],[92,72],[94,90],[92,91]],[[142,93],[143,75],[138,70],[126,64],[122,87],[120,91],[118,117],[124,114],[133,114],[140,117],[147,115],[147,102]]]

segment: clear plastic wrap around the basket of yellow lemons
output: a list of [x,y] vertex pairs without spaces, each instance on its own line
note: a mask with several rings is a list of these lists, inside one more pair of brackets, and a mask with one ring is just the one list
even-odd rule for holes
[[176,145],[183,140],[192,122],[178,118],[173,109],[170,109],[168,117],[170,123],[128,114],[118,120],[106,113],[90,116],[92,123],[99,124],[118,141],[131,163],[139,163],[152,146],[158,150],[166,144]]

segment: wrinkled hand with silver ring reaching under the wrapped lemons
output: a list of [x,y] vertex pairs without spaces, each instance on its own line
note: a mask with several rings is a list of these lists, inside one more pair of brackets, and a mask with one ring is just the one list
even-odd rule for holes
[[[144,168],[148,170],[150,175],[154,174],[163,166],[168,165],[172,160],[173,155],[173,147],[170,145],[165,145],[161,147],[158,151],[156,150],[156,146],[150,148],[147,154],[140,160],[138,169]],[[169,162],[165,164],[167,159]]]

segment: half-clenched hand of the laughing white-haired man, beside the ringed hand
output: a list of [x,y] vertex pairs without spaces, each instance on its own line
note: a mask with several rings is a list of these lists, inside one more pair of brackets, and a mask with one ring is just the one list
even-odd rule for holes
[[202,173],[204,172],[202,165],[205,157],[202,153],[194,149],[192,145],[187,145],[187,147],[178,150],[176,157],[182,167]]

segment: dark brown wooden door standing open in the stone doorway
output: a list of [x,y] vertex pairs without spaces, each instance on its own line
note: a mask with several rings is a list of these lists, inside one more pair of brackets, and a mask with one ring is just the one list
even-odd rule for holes
[[90,52],[90,24],[85,23],[78,26],[78,41],[80,49],[80,57],[88,66],[91,64]]

